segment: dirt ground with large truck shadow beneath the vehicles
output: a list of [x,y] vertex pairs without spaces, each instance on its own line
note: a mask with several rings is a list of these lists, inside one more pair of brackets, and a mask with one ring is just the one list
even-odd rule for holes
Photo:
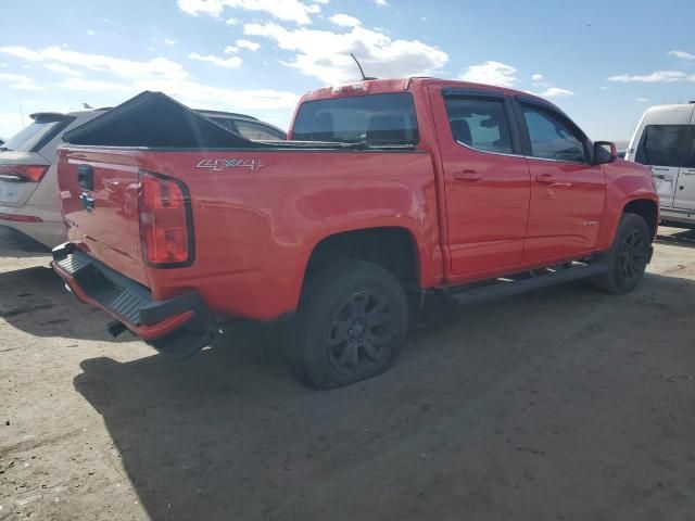
[[166,359],[0,245],[0,520],[693,520],[694,246],[662,229],[629,295],[430,309],[315,392],[281,331]]

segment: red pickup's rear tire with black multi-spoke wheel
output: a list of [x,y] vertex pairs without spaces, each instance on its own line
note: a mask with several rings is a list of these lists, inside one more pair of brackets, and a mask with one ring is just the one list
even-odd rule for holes
[[298,376],[332,389],[382,373],[405,342],[407,306],[397,279],[374,264],[341,260],[309,276],[292,353]]

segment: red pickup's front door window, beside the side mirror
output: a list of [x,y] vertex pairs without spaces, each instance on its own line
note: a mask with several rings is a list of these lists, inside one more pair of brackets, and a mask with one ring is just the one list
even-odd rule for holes
[[558,114],[521,105],[531,140],[531,155],[545,160],[586,163],[584,137]]

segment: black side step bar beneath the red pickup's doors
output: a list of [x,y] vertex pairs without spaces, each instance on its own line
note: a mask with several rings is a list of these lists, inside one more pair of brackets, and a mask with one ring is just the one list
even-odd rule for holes
[[580,264],[571,267],[546,270],[542,275],[532,275],[523,279],[494,279],[493,282],[469,284],[442,290],[443,294],[457,301],[459,304],[477,304],[483,301],[519,295],[529,291],[540,290],[549,285],[561,284],[572,280],[595,277],[608,271],[608,265]]

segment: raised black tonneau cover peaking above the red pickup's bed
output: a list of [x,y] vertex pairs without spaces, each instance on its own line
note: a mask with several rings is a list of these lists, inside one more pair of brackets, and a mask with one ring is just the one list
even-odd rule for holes
[[230,132],[162,92],[147,90],[65,132],[63,140],[99,147],[264,147]]

